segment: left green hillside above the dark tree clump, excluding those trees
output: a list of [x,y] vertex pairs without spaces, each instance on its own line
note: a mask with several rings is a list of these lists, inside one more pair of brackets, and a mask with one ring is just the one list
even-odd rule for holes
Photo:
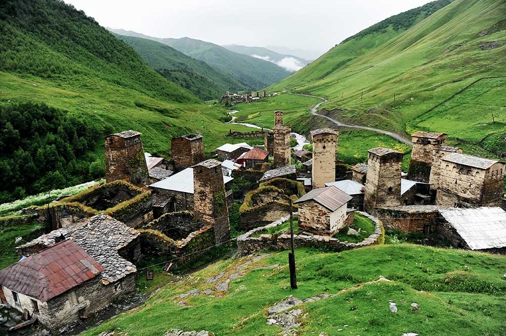
[[[201,132],[210,152],[230,128],[249,130],[220,122],[225,111],[163,78],[132,47],[71,6],[53,0],[2,3],[0,16],[0,103],[44,102],[86,115],[104,131],[135,129],[143,133],[146,151],[160,155],[170,154],[173,136]],[[102,146],[94,156],[102,159]]]

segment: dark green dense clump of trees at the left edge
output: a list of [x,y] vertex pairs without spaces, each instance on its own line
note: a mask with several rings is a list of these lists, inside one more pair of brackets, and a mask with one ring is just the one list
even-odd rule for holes
[[0,203],[102,175],[88,154],[104,129],[33,103],[0,105]]

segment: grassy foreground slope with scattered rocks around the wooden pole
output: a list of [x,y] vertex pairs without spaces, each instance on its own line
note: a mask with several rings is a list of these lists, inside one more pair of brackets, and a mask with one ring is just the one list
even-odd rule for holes
[[[213,287],[205,283],[207,278],[221,271],[232,274],[244,262],[243,258],[226,259],[164,286],[138,309],[83,335],[112,329],[129,336],[163,335],[171,328],[276,335],[281,329],[266,324],[269,306],[289,295],[306,299],[321,293],[339,294],[301,305],[307,316],[298,328],[299,334],[501,335],[506,328],[503,256],[403,244],[342,253],[298,249],[296,260],[297,290],[289,289],[287,252],[281,252],[248,266],[279,264],[280,269],[250,270],[246,276],[232,280],[223,295],[200,295],[186,299],[188,306],[178,305],[181,299],[176,296]],[[393,282],[353,287],[382,275]],[[395,315],[389,310],[389,300],[397,303]],[[419,311],[413,311],[412,302],[418,303]],[[336,331],[338,328],[344,331]]]

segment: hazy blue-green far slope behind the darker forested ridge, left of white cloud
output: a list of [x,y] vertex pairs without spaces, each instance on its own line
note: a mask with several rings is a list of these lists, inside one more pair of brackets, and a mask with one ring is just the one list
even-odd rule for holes
[[274,63],[237,54],[210,42],[188,37],[163,38],[160,42],[225,71],[256,90],[272,85],[290,74]]

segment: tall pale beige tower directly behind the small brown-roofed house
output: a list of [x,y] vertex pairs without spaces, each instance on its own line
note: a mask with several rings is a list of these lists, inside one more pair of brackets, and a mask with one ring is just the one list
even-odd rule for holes
[[338,153],[339,131],[321,128],[311,131],[313,140],[313,188],[322,188],[335,181],[335,159]]

